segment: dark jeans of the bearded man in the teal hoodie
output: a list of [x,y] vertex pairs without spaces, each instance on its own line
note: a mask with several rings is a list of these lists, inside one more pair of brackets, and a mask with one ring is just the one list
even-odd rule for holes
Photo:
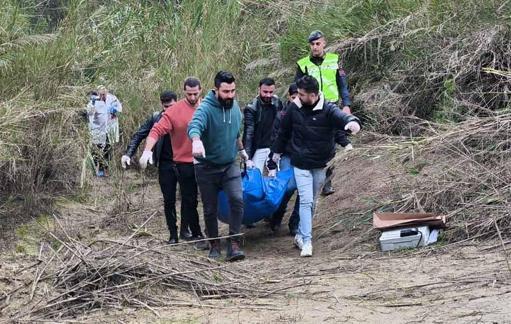
[[231,208],[229,235],[238,234],[243,218],[241,173],[236,163],[226,166],[200,163],[195,165],[195,176],[204,206],[204,222],[208,237],[218,237],[218,193],[225,192]]

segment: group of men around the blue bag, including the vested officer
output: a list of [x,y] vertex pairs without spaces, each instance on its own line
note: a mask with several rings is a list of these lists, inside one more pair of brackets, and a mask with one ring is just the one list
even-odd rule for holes
[[[298,191],[290,232],[300,255],[312,255],[312,217],[317,195],[326,177],[326,165],[335,154],[335,143],[347,146],[346,132],[360,130],[359,120],[350,114],[346,75],[339,68],[336,54],[325,53],[324,35],[309,36],[311,55],[298,61],[295,84],[289,87],[283,104],[275,95],[275,81],[264,78],[259,95],[243,113],[236,95],[236,80],[230,72],[220,71],[214,89],[201,99],[198,79],[187,78],[184,98],[177,101],[171,91],[160,96],[162,111],[152,114],[133,135],[122,166],[131,163],[138,145],[146,144],[139,164],[158,165],[164,210],[170,232],[169,243],[194,240],[208,256],[221,257],[218,232],[217,199],[221,190],[230,207],[226,260],[245,258],[240,249],[243,218],[241,172],[237,156],[247,168],[258,168],[268,176],[277,169],[293,168],[294,177],[270,225],[277,230],[293,191]],[[342,98],[343,109],[337,103]],[[243,126],[243,136],[242,132]],[[181,226],[177,229],[176,185],[181,192]],[[204,210],[209,245],[199,223],[198,190]],[[178,236],[179,232],[179,236]]]

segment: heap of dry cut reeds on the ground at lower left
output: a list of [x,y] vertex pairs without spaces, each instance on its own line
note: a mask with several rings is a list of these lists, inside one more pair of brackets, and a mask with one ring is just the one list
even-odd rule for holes
[[[41,244],[33,279],[0,298],[0,309],[12,321],[63,321],[94,310],[224,307],[214,300],[236,299],[247,306],[257,298],[308,284],[296,269],[253,269],[241,263],[210,260],[200,252],[169,246],[147,237],[144,228],[156,212],[129,237],[96,238],[84,244],[70,236],[58,218]],[[271,278],[269,280],[268,278]],[[18,303],[23,303],[18,307]],[[260,307],[260,306],[257,306]],[[264,309],[263,307],[260,307]]]

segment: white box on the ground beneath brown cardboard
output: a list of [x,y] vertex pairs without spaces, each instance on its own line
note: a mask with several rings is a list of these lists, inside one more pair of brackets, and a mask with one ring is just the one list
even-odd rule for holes
[[426,246],[429,240],[429,226],[406,227],[383,231],[380,236],[382,251]]

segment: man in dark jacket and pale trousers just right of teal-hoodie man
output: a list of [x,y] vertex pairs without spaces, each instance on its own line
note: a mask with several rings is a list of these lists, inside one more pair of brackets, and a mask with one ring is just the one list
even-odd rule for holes
[[274,93],[275,80],[262,79],[259,81],[259,95],[243,110],[243,145],[249,157],[247,168],[256,167],[261,174],[270,154],[273,123],[282,110],[282,101]]

